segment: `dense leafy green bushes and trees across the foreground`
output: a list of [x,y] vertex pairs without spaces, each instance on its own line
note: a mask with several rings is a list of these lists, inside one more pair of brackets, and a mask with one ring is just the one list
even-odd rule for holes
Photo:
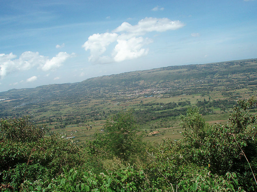
[[239,100],[230,123],[208,125],[199,102],[180,115],[183,139],[160,144],[142,141],[131,112],[111,115],[84,146],[45,137],[29,117],[1,119],[0,190],[256,191],[256,104]]

